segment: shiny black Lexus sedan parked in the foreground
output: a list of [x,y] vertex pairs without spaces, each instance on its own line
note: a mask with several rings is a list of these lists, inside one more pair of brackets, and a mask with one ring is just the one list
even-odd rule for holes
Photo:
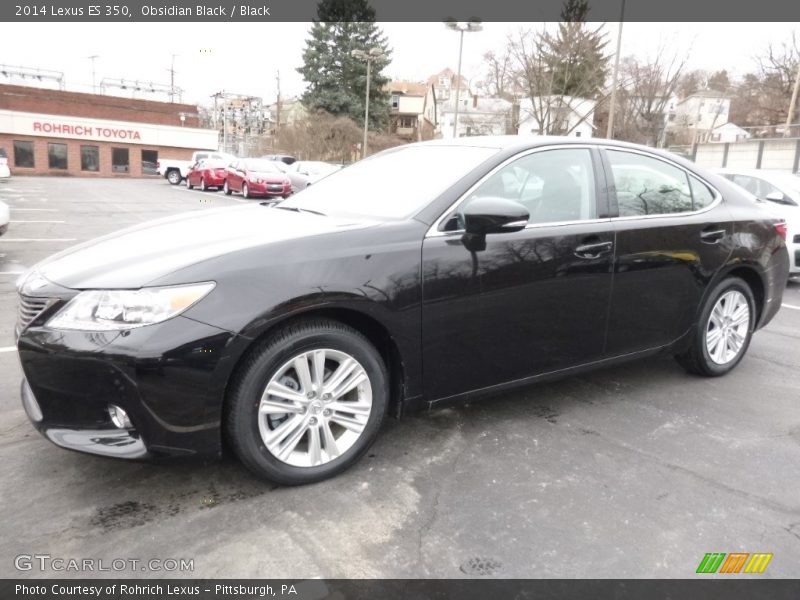
[[341,472],[387,414],[669,353],[730,371],[785,225],[671,154],[579,138],[387,150],[276,205],[190,212],[18,282],[22,402],[58,446]]

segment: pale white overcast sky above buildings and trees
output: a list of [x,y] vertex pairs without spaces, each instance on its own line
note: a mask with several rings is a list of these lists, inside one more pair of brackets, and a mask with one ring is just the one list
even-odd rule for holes
[[[441,23],[381,23],[393,49],[386,73],[396,79],[422,80],[445,67],[456,69],[458,34]],[[520,27],[538,23],[485,23],[484,30],[465,35],[462,72],[467,79],[482,73],[483,54],[501,51],[506,37]],[[608,52],[614,51],[618,24],[605,26]],[[67,89],[91,91],[103,77],[169,83],[172,55],[176,85],[184,101],[209,103],[225,90],[261,96],[272,102],[275,76],[281,74],[284,98],[302,92],[295,70],[302,62],[308,23],[16,23],[3,33],[3,57],[8,65],[62,71]],[[742,74],[753,68],[753,57],[772,42],[790,41],[798,23],[626,23],[622,55],[655,56],[660,50],[689,54],[689,67],[728,69]],[[32,43],[31,40],[47,40]],[[20,83],[0,75],[1,83]],[[122,93],[122,92],[118,92]],[[166,99],[146,94],[143,98]]]

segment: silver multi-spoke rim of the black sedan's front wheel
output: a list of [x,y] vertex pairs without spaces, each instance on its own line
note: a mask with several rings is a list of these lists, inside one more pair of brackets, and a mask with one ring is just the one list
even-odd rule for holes
[[278,460],[295,467],[324,465],[358,441],[372,412],[364,367],[345,352],[319,349],[283,364],[258,406],[261,439]]

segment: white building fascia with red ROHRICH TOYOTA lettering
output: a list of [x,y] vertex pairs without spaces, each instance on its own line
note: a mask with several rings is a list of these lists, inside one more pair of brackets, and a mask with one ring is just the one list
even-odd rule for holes
[[0,110],[0,133],[171,148],[216,148],[214,129]]

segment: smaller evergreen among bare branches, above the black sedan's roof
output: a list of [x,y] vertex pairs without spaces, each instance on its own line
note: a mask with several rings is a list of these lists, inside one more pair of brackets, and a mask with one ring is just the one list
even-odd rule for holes
[[588,13],[588,0],[566,0],[558,32],[543,36],[543,59],[552,76],[553,94],[592,98],[605,85],[608,40],[602,26],[587,26]]

